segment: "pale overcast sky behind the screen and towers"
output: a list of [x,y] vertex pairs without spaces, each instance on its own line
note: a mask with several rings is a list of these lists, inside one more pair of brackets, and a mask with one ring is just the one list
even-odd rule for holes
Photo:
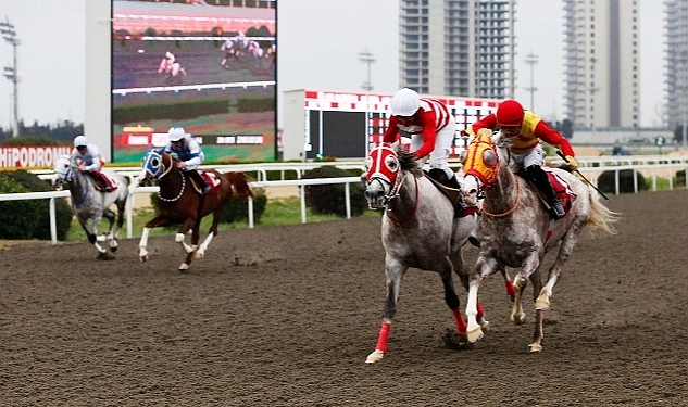
[[[14,25],[17,47],[18,111],[25,124],[83,123],[85,115],[85,14],[87,0],[3,1],[0,18]],[[88,0],[105,1],[105,0]],[[370,52],[374,92],[399,87],[397,0],[278,0],[278,111],[282,92],[296,89],[361,91]],[[562,3],[517,0],[516,99],[529,104],[534,69],[534,111],[561,119],[563,112]],[[524,12],[527,10],[527,12]],[[526,21],[527,18],[527,21]],[[640,0],[641,124],[660,124],[664,97],[662,3]],[[537,22],[537,24],[528,24]],[[12,66],[12,47],[0,41],[0,64]],[[538,56],[528,65],[526,55]],[[13,85],[0,77],[0,126],[12,119]],[[282,124],[282,114],[278,113]]]

